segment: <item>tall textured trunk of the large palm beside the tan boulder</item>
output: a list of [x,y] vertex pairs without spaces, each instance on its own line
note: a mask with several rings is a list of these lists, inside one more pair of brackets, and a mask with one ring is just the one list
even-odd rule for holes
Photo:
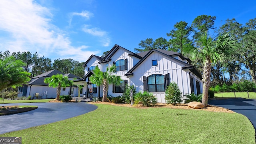
[[210,58],[206,58],[204,61],[203,68],[203,96],[202,96],[202,104],[207,106],[208,104],[208,91],[210,87],[210,74],[211,74],[211,61]]

